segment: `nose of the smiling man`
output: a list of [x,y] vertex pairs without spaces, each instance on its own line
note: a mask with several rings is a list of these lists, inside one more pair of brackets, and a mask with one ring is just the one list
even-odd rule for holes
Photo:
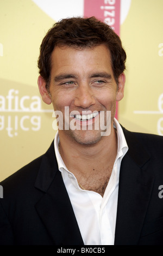
[[95,96],[89,85],[80,85],[76,91],[76,97],[74,99],[74,105],[80,108],[86,109],[95,104]]

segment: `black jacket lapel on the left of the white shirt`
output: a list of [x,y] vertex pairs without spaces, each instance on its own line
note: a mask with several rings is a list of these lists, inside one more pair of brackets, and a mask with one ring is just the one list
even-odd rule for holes
[[35,187],[45,192],[35,208],[54,245],[84,245],[61,172],[58,170],[53,143],[42,158]]

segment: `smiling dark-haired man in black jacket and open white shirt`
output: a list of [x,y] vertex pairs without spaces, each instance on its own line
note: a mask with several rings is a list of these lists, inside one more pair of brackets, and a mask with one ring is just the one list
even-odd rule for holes
[[161,136],[115,119],[126,52],[95,17],[61,20],[40,47],[43,102],[61,113],[43,156],[4,180],[2,245],[161,245]]

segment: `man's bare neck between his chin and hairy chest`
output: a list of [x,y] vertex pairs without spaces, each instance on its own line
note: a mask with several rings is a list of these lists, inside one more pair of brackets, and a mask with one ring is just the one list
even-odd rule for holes
[[91,145],[80,145],[61,134],[60,154],[67,169],[76,177],[95,176],[99,174],[99,170],[106,172],[111,169],[116,158],[116,132],[112,128],[109,136],[103,136],[100,141]]

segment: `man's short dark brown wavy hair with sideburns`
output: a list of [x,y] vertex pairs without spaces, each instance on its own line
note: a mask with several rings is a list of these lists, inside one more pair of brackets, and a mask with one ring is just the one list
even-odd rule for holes
[[71,17],[55,23],[47,32],[40,46],[39,73],[47,82],[51,79],[51,55],[55,46],[70,46],[83,49],[105,44],[111,53],[112,71],[118,84],[126,62],[120,37],[106,23],[95,17]]

